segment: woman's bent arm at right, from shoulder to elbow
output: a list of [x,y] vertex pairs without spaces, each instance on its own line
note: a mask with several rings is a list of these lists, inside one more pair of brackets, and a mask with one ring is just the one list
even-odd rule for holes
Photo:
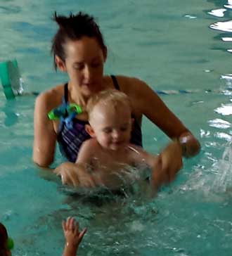
[[191,157],[200,151],[199,141],[145,82],[131,77],[118,77],[118,82],[131,98],[135,113],[146,115],[170,139],[179,139],[184,156]]

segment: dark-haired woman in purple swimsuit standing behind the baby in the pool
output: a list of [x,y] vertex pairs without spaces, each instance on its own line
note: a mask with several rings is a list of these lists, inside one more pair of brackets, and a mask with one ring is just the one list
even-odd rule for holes
[[[53,18],[59,25],[51,49],[54,65],[56,69],[67,72],[69,81],[37,97],[33,148],[33,160],[37,165],[49,167],[53,162],[56,141],[67,160],[75,162],[82,142],[89,139],[84,129],[88,120],[84,111],[86,103],[92,94],[112,88],[123,91],[131,100],[134,117],[131,143],[142,146],[143,115],[169,138],[180,141],[182,151],[176,148],[162,159],[169,174],[175,173],[182,165],[179,152],[186,157],[198,153],[198,141],[145,82],[133,77],[103,75],[107,47],[93,17],[80,12],[77,15],[70,14],[69,17],[55,13]],[[82,113],[76,115],[78,111],[71,111],[70,104],[80,106]],[[71,175],[75,179],[75,174]]]

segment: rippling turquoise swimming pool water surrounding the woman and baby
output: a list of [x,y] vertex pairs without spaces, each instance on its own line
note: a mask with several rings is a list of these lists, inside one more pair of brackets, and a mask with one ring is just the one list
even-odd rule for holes
[[[6,101],[1,91],[0,221],[15,240],[13,255],[60,255],[60,222],[67,216],[88,227],[79,255],[231,255],[231,5],[1,1],[1,60],[18,60],[27,91],[66,79],[52,69],[53,11],[86,11],[98,18],[105,34],[106,73],[141,77],[153,89],[195,91],[162,99],[202,144],[201,153],[184,161],[176,181],[157,198],[138,188],[127,198],[86,202],[32,164],[34,98]],[[148,120],[143,134],[150,152],[167,142]]]

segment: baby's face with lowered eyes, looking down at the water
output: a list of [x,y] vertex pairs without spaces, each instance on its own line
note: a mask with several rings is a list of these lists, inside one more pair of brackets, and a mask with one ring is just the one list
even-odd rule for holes
[[98,103],[91,112],[89,123],[103,148],[117,151],[130,141],[131,109],[125,104]]

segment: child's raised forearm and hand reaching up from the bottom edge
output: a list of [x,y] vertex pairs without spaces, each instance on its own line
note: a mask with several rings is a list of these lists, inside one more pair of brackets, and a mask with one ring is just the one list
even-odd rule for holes
[[62,226],[65,236],[63,256],[76,256],[78,246],[82,242],[82,238],[87,229],[85,228],[79,232],[79,224],[78,222],[75,222],[73,217],[68,217],[66,221],[63,221]]

